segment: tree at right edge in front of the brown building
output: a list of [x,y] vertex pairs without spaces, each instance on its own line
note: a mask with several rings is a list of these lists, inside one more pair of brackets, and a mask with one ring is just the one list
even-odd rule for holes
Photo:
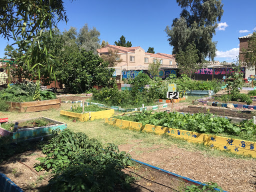
[[248,48],[242,48],[242,54],[247,65],[256,65],[256,32],[253,32],[248,40]]

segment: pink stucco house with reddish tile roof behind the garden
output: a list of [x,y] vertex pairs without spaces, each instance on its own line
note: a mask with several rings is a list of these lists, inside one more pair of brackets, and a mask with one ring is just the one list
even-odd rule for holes
[[147,67],[150,62],[154,62],[155,59],[160,60],[161,66],[177,67],[175,58],[172,54],[166,53],[148,53],[145,52],[140,46],[124,47],[107,44],[103,48],[97,49],[99,55],[108,54],[108,49],[118,50],[119,58],[122,61],[117,63],[115,67],[125,66],[126,68],[132,66],[145,66]]

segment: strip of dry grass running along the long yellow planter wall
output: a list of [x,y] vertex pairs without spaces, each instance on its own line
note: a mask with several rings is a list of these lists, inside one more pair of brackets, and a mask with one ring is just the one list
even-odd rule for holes
[[208,146],[203,144],[189,143],[186,140],[174,138],[168,135],[156,135],[154,133],[140,132],[135,130],[120,129],[118,127],[104,123],[104,119],[95,119],[93,121],[73,122],[66,116],[61,115],[59,110],[70,109],[71,103],[61,103],[59,109],[51,109],[30,113],[18,113],[18,112],[1,112],[1,116],[8,117],[9,120],[17,120],[32,117],[45,116],[51,119],[55,119],[61,122],[67,123],[67,127],[75,132],[83,132],[89,138],[96,138],[103,145],[107,143],[121,144],[136,144],[133,151],[141,151],[141,148],[146,148],[155,145],[171,146],[175,145],[179,148],[185,148],[188,151],[201,151],[206,156],[224,156],[230,158],[252,159],[244,155],[231,153],[228,151],[221,151],[218,149],[211,150]]

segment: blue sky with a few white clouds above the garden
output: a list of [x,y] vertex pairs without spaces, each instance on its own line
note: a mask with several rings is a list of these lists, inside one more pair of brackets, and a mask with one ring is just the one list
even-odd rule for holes
[[[217,41],[214,59],[233,61],[239,54],[238,37],[256,30],[256,0],[222,0],[222,4],[224,13],[213,36]],[[87,23],[99,30],[100,42],[107,40],[114,44],[124,35],[132,46],[141,46],[145,51],[150,46],[155,52],[169,54],[172,47],[164,29],[181,11],[176,0],[64,0],[64,7],[69,20],[67,24],[58,23],[61,31],[70,26],[80,29]],[[0,37],[1,58],[7,43]]]

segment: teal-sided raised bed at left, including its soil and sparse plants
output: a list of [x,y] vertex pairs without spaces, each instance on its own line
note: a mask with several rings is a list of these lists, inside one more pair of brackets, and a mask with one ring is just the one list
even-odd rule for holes
[[[47,121],[47,124],[45,126],[38,126],[36,125],[36,120]],[[18,122],[20,125],[17,131],[15,132],[12,132],[13,130],[12,126],[11,126],[12,127],[11,130],[6,130],[5,128],[2,128],[3,126],[6,127],[6,125],[8,124],[14,126],[15,122]],[[29,125],[29,123],[31,125]],[[32,126],[32,124],[34,124],[34,126]],[[11,136],[13,141],[21,141],[21,140],[40,138],[42,136],[50,135],[52,133],[52,130],[56,128],[63,130],[66,128],[66,123],[53,120],[47,117],[39,117],[39,118],[27,118],[27,119],[8,121],[4,125],[2,124],[1,126],[2,126],[0,127],[1,136]]]

